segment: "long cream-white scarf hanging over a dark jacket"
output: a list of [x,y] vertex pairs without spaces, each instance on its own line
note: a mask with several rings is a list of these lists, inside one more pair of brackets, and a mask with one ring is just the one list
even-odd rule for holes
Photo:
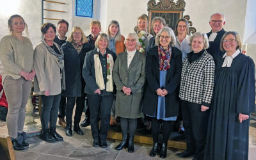
[[[99,86],[100,90],[105,89],[105,83],[103,79],[103,74],[102,74],[102,67],[100,63],[100,58],[99,54],[94,54],[94,68],[95,68],[95,78],[96,78],[96,83]],[[112,70],[114,66],[114,60],[113,56],[111,54],[107,53],[107,83],[106,83],[106,91],[107,92],[113,92],[113,77],[112,77]]]

